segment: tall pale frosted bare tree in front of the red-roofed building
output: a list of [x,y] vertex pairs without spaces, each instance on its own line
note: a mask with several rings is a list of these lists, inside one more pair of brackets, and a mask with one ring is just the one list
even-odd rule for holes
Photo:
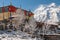
[[25,18],[24,12],[22,11],[22,9],[17,9],[16,14],[15,14],[15,27],[18,29],[19,25],[23,24]]

